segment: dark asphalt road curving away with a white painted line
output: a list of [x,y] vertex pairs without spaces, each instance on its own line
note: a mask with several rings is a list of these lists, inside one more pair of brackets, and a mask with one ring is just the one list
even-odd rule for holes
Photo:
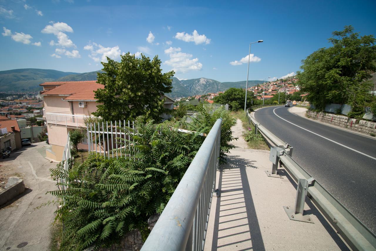
[[293,158],[376,233],[376,140],[310,121],[288,108],[262,108],[255,118],[293,146]]

